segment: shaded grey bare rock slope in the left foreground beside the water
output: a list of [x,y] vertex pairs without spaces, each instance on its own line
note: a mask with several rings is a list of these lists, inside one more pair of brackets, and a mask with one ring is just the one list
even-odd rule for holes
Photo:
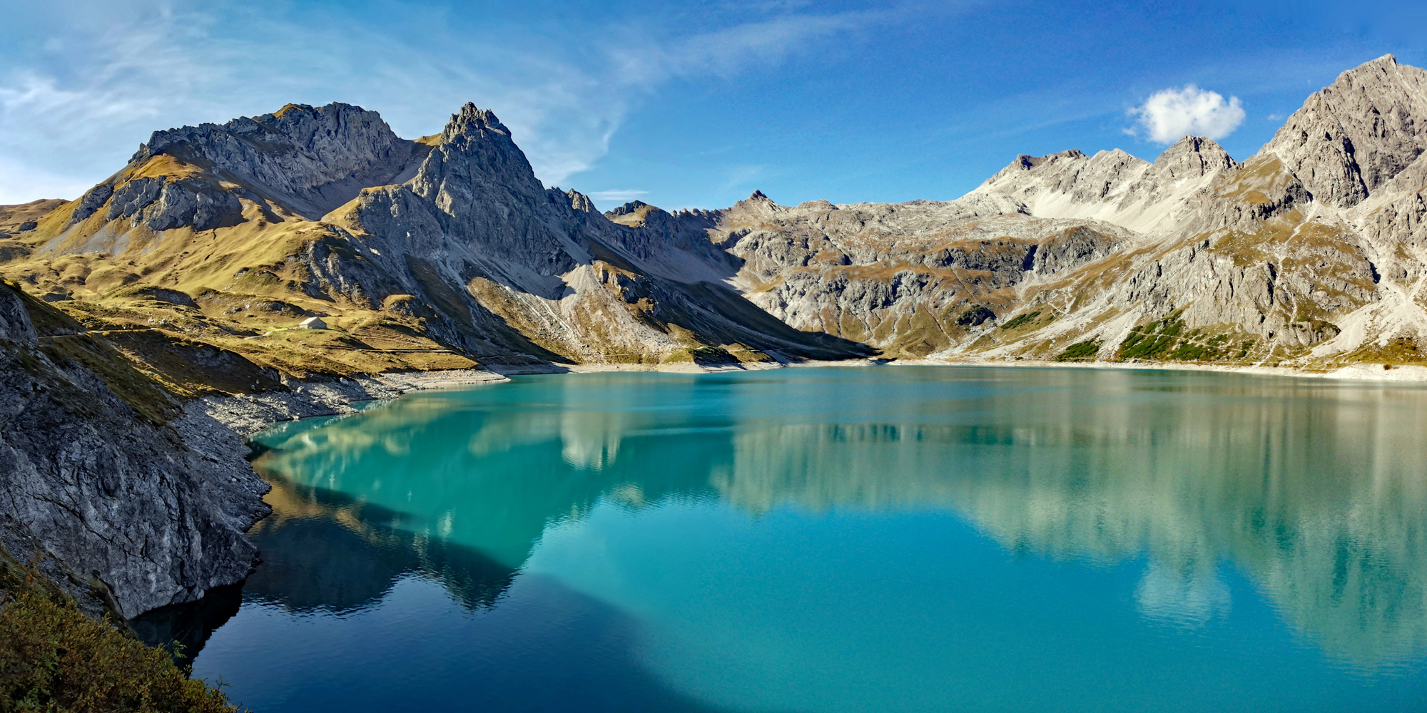
[[[237,438],[184,416],[61,318],[36,329],[31,308],[44,311],[0,285],[0,548],[21,562],[39,555],[81,602],[107,600],[121,616],[247,576],[257,550],[243,533],[267,513],[267,486]],[[204,432],[220,442],[198,451]]]

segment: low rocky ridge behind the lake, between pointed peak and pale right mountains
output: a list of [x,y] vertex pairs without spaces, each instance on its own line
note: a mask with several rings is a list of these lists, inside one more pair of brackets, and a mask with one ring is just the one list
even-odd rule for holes
[[755,193],[716,212],[636,210],[639,230],[662,232],[665,244],[705,234],[735,260],[729,282],[779,319],[899,355],[973,341],[1019,304],[1027,281],[1052,279],[1132,237],[1110,224],[975,217],[958,201],[785,207]]

